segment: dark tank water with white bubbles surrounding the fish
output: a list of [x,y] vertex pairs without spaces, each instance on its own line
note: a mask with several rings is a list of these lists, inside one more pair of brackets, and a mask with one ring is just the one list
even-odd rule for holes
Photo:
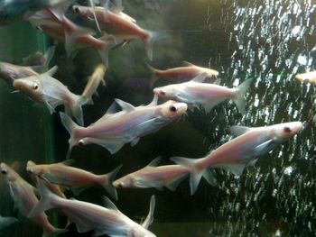
[[[314,86],[300,84],[297,73],[315,68],[315,7],[311,0],[301,1],[125,1],[125,13],[142,27],[167,32],[170,37],[155,44],[153,62],[146,58],[141,41],[133,41],[110,52],[107,87],[99,87],[94,105],[84,107],[85,124],[98,120],[120,98],[132,105],[146,105],[152,98],[148,62],[155,68],[173,68],[182,60],[220,72],[221,85],[237,86],[254,78],[246,95],[246,115],[228,101],[209,114],[194,110],[176,123],[141,138],[110,155],[97,145],[76,147],[74,166],[96,174],[107,173],[123,164],[118,177],[143,168],[157,156],[171,164],[172,156],[203,157],[232,137],[229,126],[264,126],[301,121],[304,129],[290,141],[260,157],[256,166],[247,167],[240,178],[216,169],[218,187],[205,180],[190,196],[188,179],[176,191],[154,189],[118,190],[118,208],[138,223],[148,212],[150,196],[156,196],[154,222],[150,230],[157,236],[313,236],[315,232],[315,105]],[[27,23],[0,28],[0,59],[16,64],[34,50],[44,50],[50,40],[31,30]],[[27,41],[23,37],[27,35]],[[43,43],[45,42],[45,43]],[[51,65],[70,91],[80,94],[86,79],[99,62],[94,50],[80,50],[68,59],[59,44]],[[155,86],[172,83],[158,80]],[[1,160],[19,161],[19,173],[28,181],[23,167],[27,160],[36,163],[62,161],[68,150],[69,134],[58,114],[50,115],[41,105],[1,81],[0,116],[2,130]],[[59,110],[62,110],[59,108]],[[3,186],[3,215],[19,216],[14,211],[8,190]],[[67,196],[72,196],[66,191]],[[91,187],[79,200],[101,204],[107,195],[102,187]],[[52,212],[51,212],[52,214]],[[64,226],[56,214],[53,223]],[[12,236],[41,236],[41,228],[25,221],[14,224]],[[11,233],[10,232],[10,233]],[[4,235],[5,236],[5,235]],[[91,236],[78,233],[74,225],[60,236]]]

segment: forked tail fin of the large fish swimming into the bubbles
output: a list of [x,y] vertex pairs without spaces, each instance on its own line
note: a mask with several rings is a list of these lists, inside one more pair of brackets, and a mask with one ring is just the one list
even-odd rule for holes
[[190,169],[191,176],[190,176],[190,188],[191,188],[191,195],[195,193],[197,190],[200,178],[202,178],[203,173],[206,169],[198,169],[197,163],[202,160],[201,159],[189,159],[184,157],[172,157],[171,160],[181,166],[184,166],[188,169]]

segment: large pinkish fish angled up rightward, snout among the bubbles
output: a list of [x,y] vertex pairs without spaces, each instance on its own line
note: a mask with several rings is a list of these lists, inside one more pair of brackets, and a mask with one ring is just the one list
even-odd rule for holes
[[191,171],[191,195],[195,193],[200,178],[205,178],[210,185],[216,183],[209,168],[226,169],[240,176],[246,165],[256,164],[259,156],[273,150],[279,144],[292,138],[302,130],[301,122],[277,123],[264,127],[233,126],[231,132],[236,138],[212,150],[200,159],[172,157],[171,160]]

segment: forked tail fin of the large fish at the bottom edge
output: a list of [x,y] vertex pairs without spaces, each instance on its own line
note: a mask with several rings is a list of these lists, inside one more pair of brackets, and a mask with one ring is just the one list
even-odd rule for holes
[[33,207],[31,212],[27,215],[32,218],[42,212],[45,212],[51,208],[54,208],[54,200],[62,199],[60,196],[53,194],[50,189],[44,185],[44,181],[41,178],[36,178],[38,191],[41,195],[41,200]]

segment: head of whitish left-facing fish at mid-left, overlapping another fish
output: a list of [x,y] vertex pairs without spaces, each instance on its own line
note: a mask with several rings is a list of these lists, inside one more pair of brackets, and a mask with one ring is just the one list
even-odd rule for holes
[[14,80],[14,87],[30,96],[35,101],[42,101],[43,88],[39,79],[35,77],[24,77]]

